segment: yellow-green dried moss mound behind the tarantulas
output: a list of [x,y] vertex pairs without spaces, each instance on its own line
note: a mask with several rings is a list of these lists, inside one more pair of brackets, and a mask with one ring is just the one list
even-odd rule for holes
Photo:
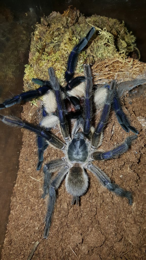
[[[91,25],[96,28],[96,33],[79,55],[76,74],[83,72],[84,63],[96,64],[99,60],[113,58],[125,63],[128,54],[137,49],[135,37],[128,32],[124,22],[97,15],[86,20],[78,10],[70,8],[63,15],[53,12],[48,17],[42,17],[40,24],[36,24],[29,64],[25,68],[24,90],[38,88],[31,82],[32,77],[48,80],[49,67],[54,67],[58,79],[64,85],[69,53],[87,34]],[[130,67],[131,64],[128,64]]]

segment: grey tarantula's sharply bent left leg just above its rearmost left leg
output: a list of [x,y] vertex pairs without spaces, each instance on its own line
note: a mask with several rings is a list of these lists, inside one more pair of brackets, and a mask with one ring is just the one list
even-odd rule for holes
[[58,159],[58,160],[52,160],[44,166],[43,169],[44,170],[44,187],[43,187],[44,192],[42,194],[43,199],[49,192],[49,185],[50,185],[52,173],[61,170],[65,166],[65,164],[66,163],[64,159]]

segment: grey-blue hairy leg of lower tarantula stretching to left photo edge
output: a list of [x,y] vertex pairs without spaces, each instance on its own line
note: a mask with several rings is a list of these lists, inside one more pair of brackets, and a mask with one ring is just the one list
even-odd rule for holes
[[16,116],[0,115],[0,120],[2,120],[2,122],[5,123],[6,125],[26,128],[31,132],[35,132],[37,135],[40,135],[43,138],[45,138],[55,148],[64,149],[65,144],[57,136],[50,133],[49,131],[45,131],[39,125],[35,126],[31,123],[23,122],[21,119],[19,119]]

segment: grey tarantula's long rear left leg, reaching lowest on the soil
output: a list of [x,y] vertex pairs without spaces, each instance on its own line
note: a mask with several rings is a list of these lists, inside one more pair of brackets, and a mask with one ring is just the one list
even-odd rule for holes
[[52,213],[54,211],[54,206],[55,206],[55,201],[56,201],[56,192],[55,190],[58,189],[60,186],[65,174],[67,174],[69,170],[68,166],[65,166],[62,168],[61,171],[57,174],[56,178],[51,182],[49,186],[49,200],[48,200],[48,207],[47,207],[47,214],[45,217],[45,230],[44,230],[44,238],[47,239],[48,234],[49,234],[49,229],[51,225],[51,218],[52,218]]

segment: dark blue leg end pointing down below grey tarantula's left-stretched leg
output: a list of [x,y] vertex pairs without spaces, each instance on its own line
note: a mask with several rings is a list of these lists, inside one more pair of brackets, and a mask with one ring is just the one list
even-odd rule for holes
[[40,135],[37,136],[37,146],[38,146],[37,171],[39,171],[39,170],[41,170],[42,163],[43,163],[43,160],[44,160],[44,157],[43,157],[44,150],[48,147],[46,140]]

